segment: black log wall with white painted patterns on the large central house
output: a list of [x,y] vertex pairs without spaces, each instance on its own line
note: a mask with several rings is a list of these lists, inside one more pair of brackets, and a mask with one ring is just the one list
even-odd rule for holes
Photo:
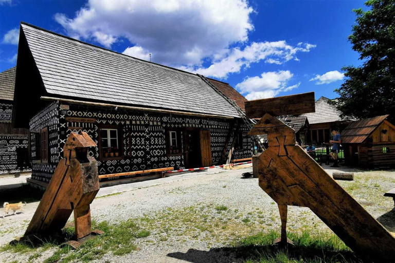
[[[241,120],[240,120],[241,121]],[[234,120],[177,116],[148,111],[132,111],[106,107],[51,103],[30,122],[31,132],[38,132],[48,126],[51,158],[48,164],[35,163],[32,178],[48,182],[55,171],[63,146],[71,132],[82,130],[99,144],[99,129],[103,125],[119,125],[124,157],[104,158],[99,147],[89,149],[89,156],[98,160],[99,174],[113,174],[140,171],[160,167],[186,166],[185,154],[168,153],[167,129],[209,130],[211,137],[212,164],[218,164],[222,157],[225,141]],[[236,127],[233,128],[236,130]],[[243,149],[235,151],[232,159],[251,157],[253,139],[247,136],[248,128],[241,126]],[[227,151],[233,135],[231,134]],[[182,152],[185,152],[185,138],[181,133]]]

